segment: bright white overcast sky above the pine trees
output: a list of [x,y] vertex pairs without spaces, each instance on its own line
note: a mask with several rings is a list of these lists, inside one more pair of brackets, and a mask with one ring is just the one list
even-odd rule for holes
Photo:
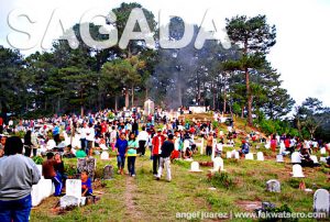
[[[120,5],[120,0],[0,0],[0,45],[10,47],[8,38],[28,46],[26,35],[13,31],[8,15],[13,10],[28,11],[33,25],[21,18],[20,27],[31,30],[35,47],[21,51],[29,55],[50,47],[61,36],[61,29],[46,32],[52,12],[58,9],[61,18],[69,27],[80,20],[87,10],[100,8],[105,12]],[[315,97],[330,107],[330,0],[136,0],[152,11],[158,20],[160,10],[176,13],[187,23],[200,24],[207,10],[217,21],[238,14],[254,16],[265,14],[268,24],[276,26],[276,45],[268,54],[272,66],[282,75],[283,87],[301,103]],[[56,21],[56,20],[54,20]],[[96,21],[97,23],[97,21]],[[46,35],[45,35],[46,33]],[[42,41],[44,37],[44,41]],[[26,44],[29,43],[29,44]]]

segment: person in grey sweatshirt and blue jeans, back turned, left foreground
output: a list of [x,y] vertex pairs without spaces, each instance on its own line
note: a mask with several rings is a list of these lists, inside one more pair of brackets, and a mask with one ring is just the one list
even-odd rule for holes
[[20,137],[7,138],[4,156],[0,158],[0,221],[28,222],[32,207],[32,186],[41,179],[35,163],[22,155]]

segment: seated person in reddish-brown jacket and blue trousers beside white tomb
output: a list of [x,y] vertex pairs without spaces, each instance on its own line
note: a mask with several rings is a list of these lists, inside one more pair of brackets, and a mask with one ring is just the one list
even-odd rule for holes
[[61,196],[62,193],[62,180],[59,175],[56,174],[54,166],[56,160],[54,159],[54,154],[52,152],[47,153],[47,160],[43,163],[43,176],[45,179],[52,179],[55,186],[55,197]]

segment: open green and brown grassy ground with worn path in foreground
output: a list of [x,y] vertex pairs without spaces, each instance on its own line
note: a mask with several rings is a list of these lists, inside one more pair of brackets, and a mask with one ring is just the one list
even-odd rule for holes
[[[209,158],[196,155],[194,159],[206,162]],[[75,166],[76,159],[65,159],[65,164]],[[108,164],[116,166],[116,157],[97,160],[97,177],[102,176],[102,168]],[[95,190],[101,198],[96,204],[58,214],[52,211],[58,199],[52,197],[32,210],[31,220],[173,221],[177,212],[252,212],[261,207],[262,201],[276,207],[287,204],[294,212],[312,212],[312,193],[299,190],[299,182],[305,181],[306,187],[314,191],[330,188],[327,182],[329,169],[304,168],[306,178],[292,178],[289,159],[276,163],[275,157],[267,159],[267,156],[265,162],[224,158],[224,176],[213,179],[208,179],[211,167],[201,167],[202,173],[189,173],[190,163],[184,160],[172,165],[172,182],[155,180],[151,168],[148,157],[138,157],[136,178],[114,174],[112,180],[103,181],[103,186]],[[265,190],[270,179],[280,181],[279,193]],[[210,187],[216,187],[216,190],[210,190]]]

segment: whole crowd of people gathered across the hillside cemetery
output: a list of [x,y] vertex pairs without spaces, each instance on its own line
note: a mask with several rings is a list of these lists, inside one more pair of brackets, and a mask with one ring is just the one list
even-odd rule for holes
[[[216,122],[223,122],[222,118],[220,113],[215,114]],[[11,221],[7,219],[13,214],[22,217],[18,211],[23,208],[24,212],[30,212],[32,185],[40,180],[41,175],[29,157],[38,155],[47,158],[42,165],[44,178],[52,179],[55,196],[62,196],[66,180],[62,157],[92,158],[94,155],[110,149],[117,154],[119,175],[125,175],[127,163],[127,174],[135,177],[136,158],[150,158],[155,179],[160,180],[163,171],[166,171],[166,180],[170,181],[170,163],[178,158],[191,159],[199,148],[196,137],[206,140],[208,156],[221,156],[222,145],[234,147],[238,141],[235,138],[239,137],[243,137],[239,151],[241,156],[250,153],[252,142],[264,142],[265,147],[274,153],[279,147],[283,155],[298,151],[304,159],[302,165],[306,166],[312,166],[312,152],[321,147],[330,152],[330,147],[320,141],[302,141],[288,135],[263,137],[255,132],[244,134],[234,130],[233,121],[229,121],[228,132],[223,133],[213,127],[211,121],[185,121],[178,114],[165,111],[144,116],[138,111],[103,110],[86,116],[55,115],[48,119],[21,120],[16,124],[11,120],[8,125],[2,125],[2,130],[7,134],[1,135],[0,143],[0,209],[3,209],[0,210],[0,221]],[[23,135],[23,140],[9,134]],[[150,151],[150,157],[145,156],[146,151]],[[328,165],[329,160],[328,158]],[[14,170],[14,163],[21,166],[20,170]],[[88,171],[81,171],[80,178],[82,196],[92,196],[92,181]],[[25,207],[23,202],[26,203]],[[12,206],[20,206],[20,209]]]

